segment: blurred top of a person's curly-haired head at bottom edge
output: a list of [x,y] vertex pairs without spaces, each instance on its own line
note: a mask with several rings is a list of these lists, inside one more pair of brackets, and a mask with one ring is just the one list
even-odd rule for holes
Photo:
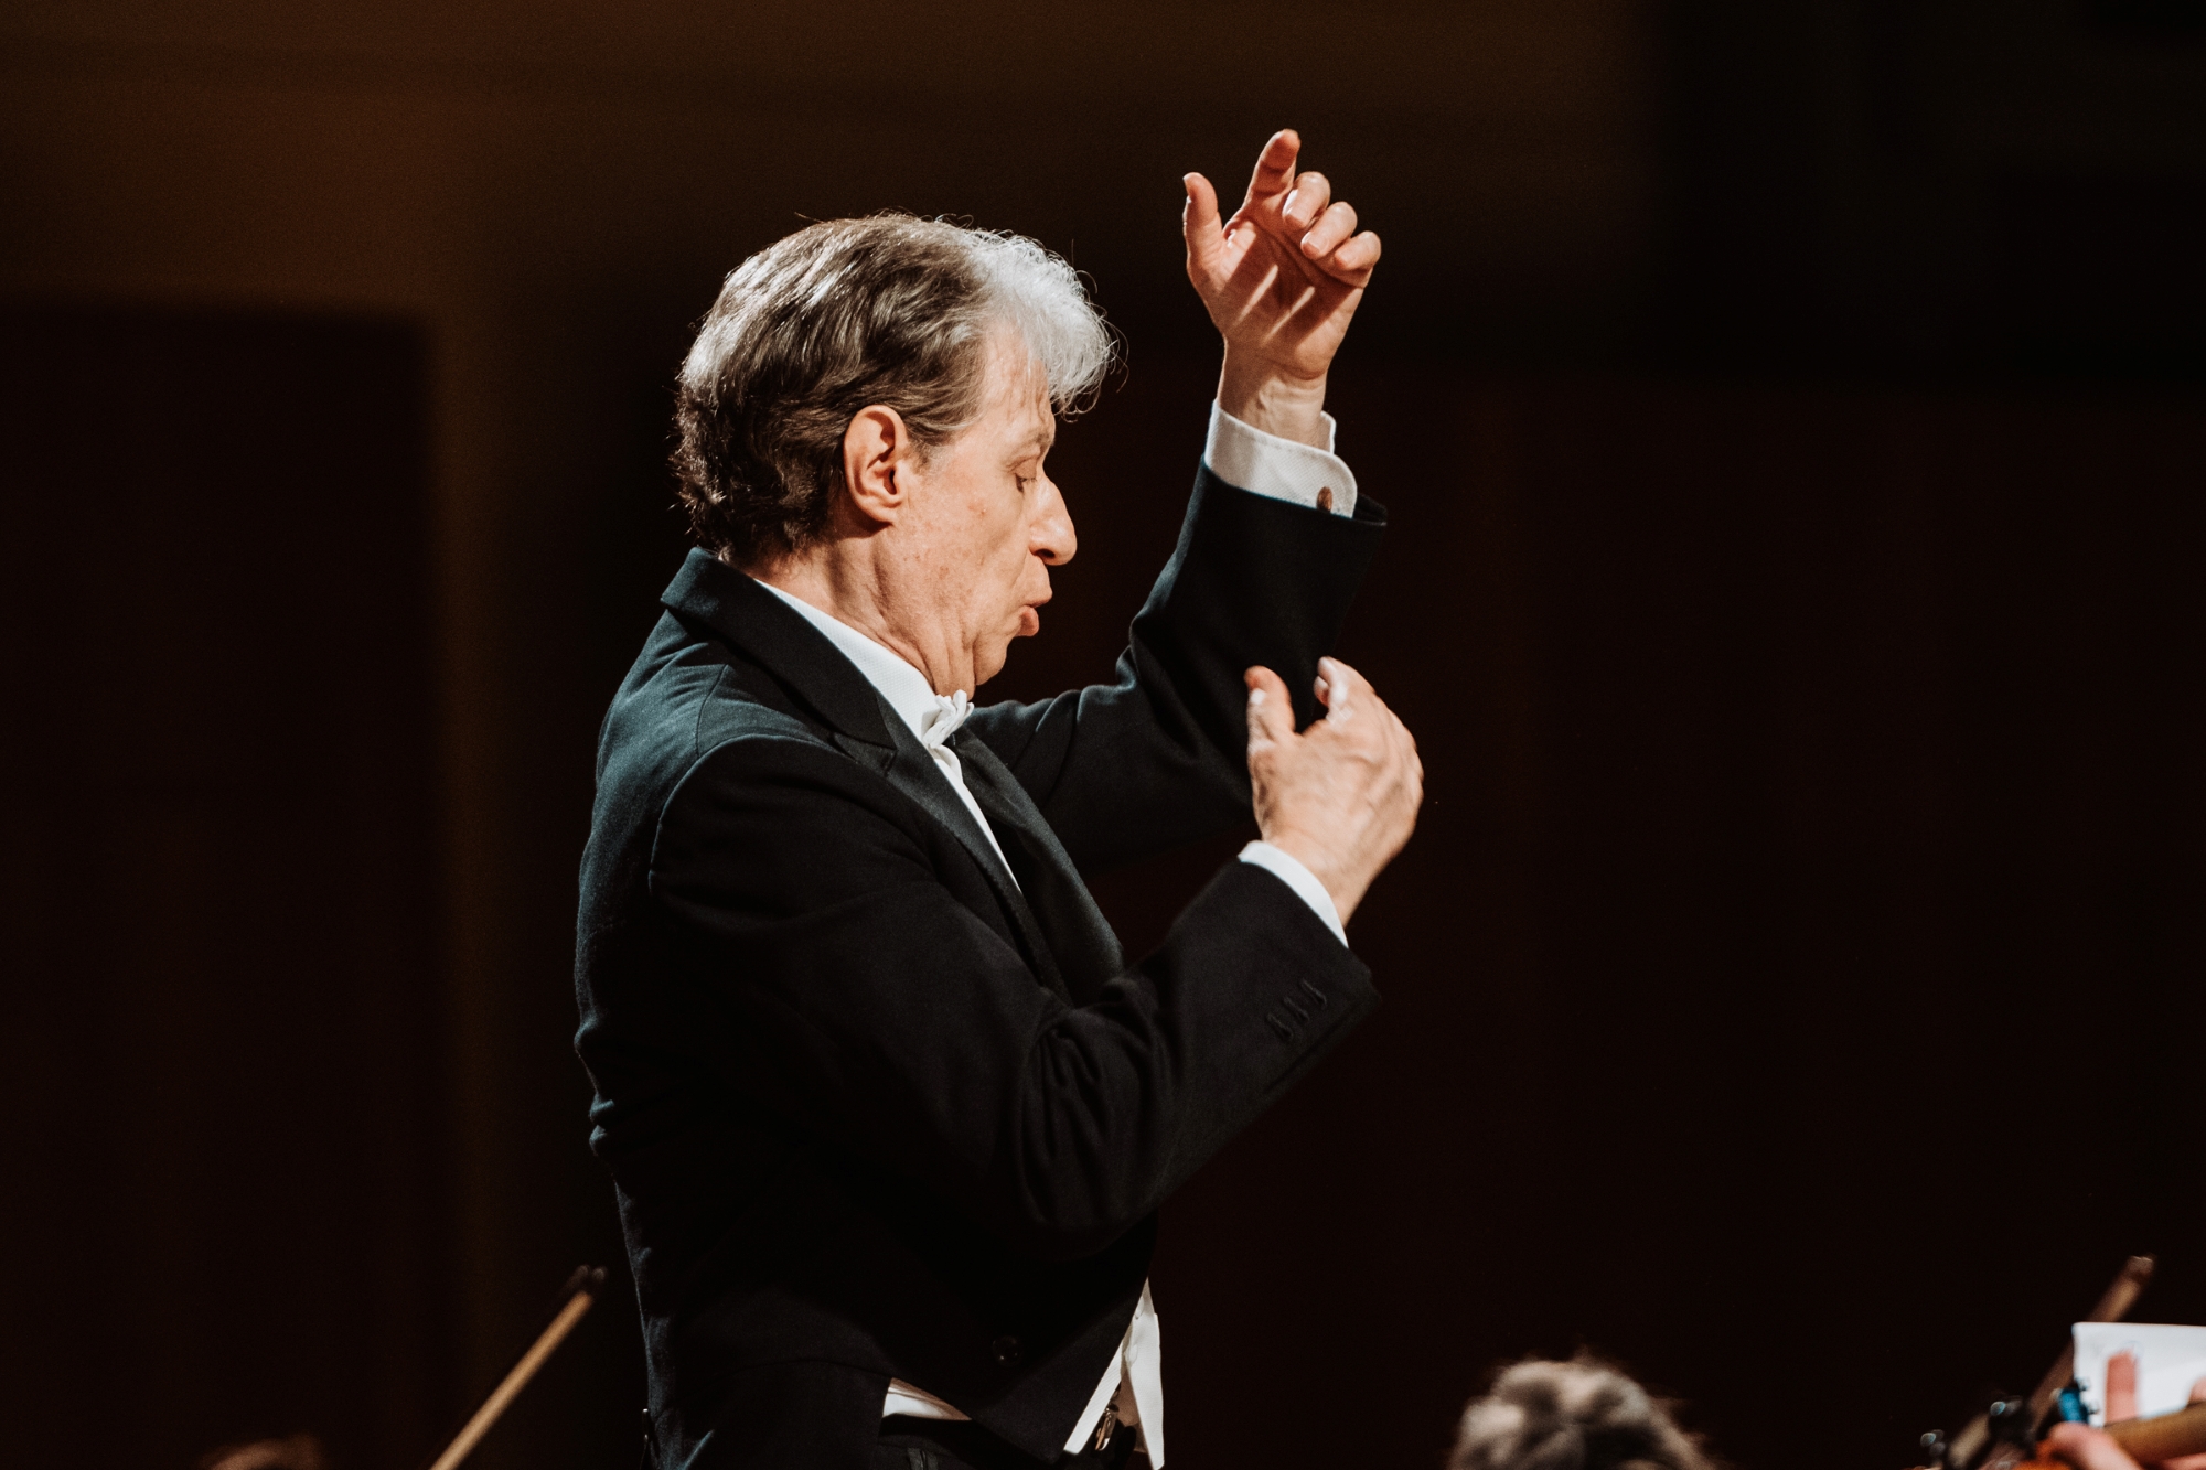
[[1646,1388],[1575,1357],[1502,1368],[1463,1410],[1449,1470],[1712,1470]]

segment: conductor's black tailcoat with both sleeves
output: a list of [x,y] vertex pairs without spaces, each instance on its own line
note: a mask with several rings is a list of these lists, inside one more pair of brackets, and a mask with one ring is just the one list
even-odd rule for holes
[[1116,682],[953,737],[1017,885],[856,667],[690,552],[604,720],[576,956],[664,1466],[867,1466],[889,1377],[1057,1455],[1158,1203],[1377,1004],[1260,867],[1132,965],[1081,874],[1246,821],[1242,669],[1317,713],[1381,525],[1200,472]]

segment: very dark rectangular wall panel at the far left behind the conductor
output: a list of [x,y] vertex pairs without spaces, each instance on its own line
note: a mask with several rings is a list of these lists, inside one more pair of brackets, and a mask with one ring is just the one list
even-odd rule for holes
[[11,1463],[457,1406],[421,347],[0,311]]

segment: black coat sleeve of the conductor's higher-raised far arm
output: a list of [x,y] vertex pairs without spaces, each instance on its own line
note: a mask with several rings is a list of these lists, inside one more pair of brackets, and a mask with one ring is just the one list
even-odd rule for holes
[[1370,497],[1337,516],[1200,468],[1116,680],[990,704],[971,728],[1081,872],[1227,830],[1249,817],[1242,671],[1277,671],[1297,726],[1317,717],[1317,660],[1339,638],[1383,528],[1385,508]]

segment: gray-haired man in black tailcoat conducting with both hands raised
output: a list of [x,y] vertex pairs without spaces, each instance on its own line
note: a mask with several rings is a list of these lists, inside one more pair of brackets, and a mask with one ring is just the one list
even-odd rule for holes
[[[827,221],[697,333],[576,949],[662,1470],[1165,1461],[1156,1210],[1377,1004],[1343,925],[1421,803],[1324,658],[1385,523],[1324,413],[1379,238],[1297,150],[1227,221],[1185,181],[1224,369],[1110,684],[973,704],[1077,545],[1046,461],[1112,344],[1063,260]],[[1251,812],[1127,958],[1083,874]]]

